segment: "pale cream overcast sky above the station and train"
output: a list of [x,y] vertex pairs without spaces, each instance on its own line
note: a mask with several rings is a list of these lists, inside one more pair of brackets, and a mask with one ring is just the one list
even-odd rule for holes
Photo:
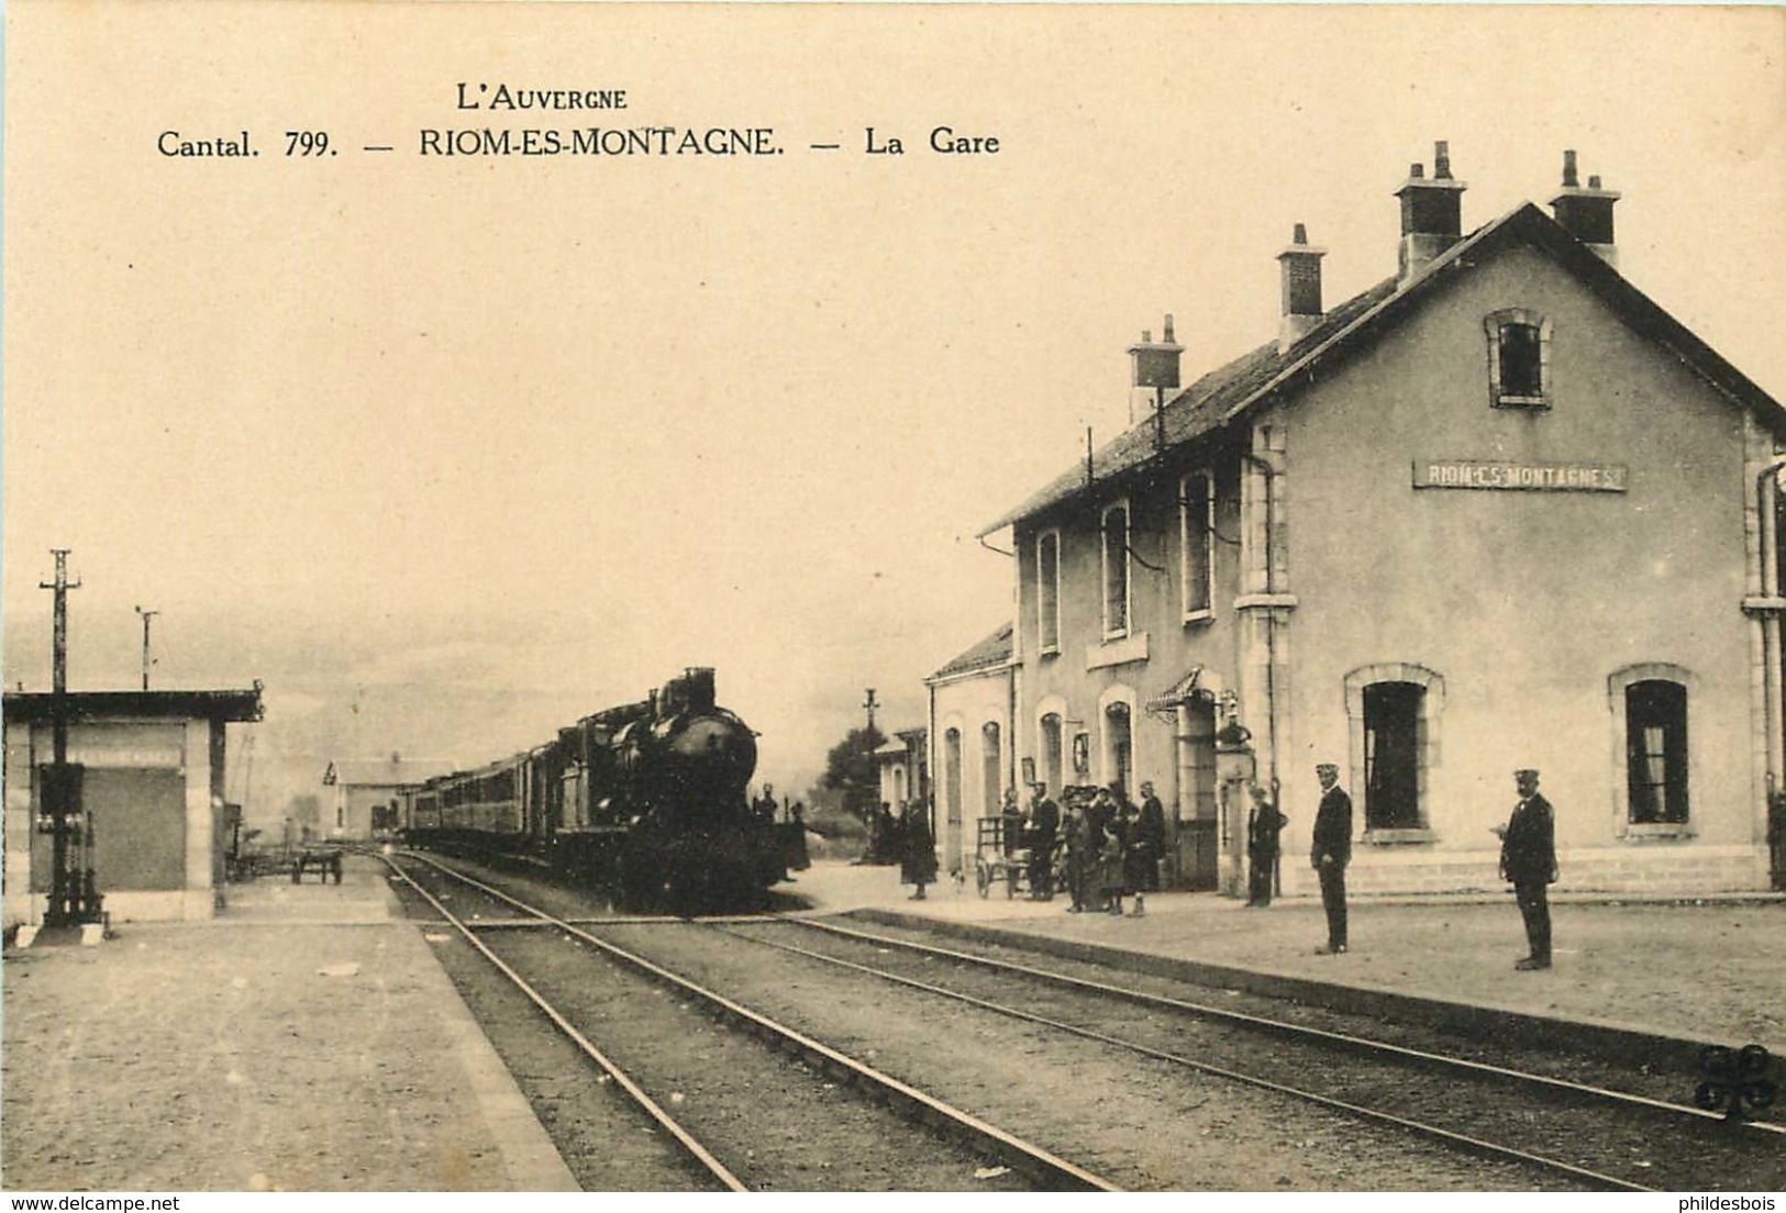
[[[9,7],[5,681],[266,682],[230,797],[473,765],[684,665],[802,788],[1009,616],[977,531],[1275,334],[1291,223],[1338,304],[1448,139],[1465,227],[1623,193],[1622,270],[1786,398],[1775,9]],[[455,109],[457,82],[622,113]],[[948,123],[997,155],[938,155]],[[421,157],[423,129],[773,127],[757,159]],[[864,132],[907,154],[864,155]],[[179,159],[250,130],[259,157]],[[284,130],[334,157],[286,157]],[[814,152],[811,143],[839,143]],[[391,145],[395,152],[363,152]],[[995,538],[997,540],[997,538]]]

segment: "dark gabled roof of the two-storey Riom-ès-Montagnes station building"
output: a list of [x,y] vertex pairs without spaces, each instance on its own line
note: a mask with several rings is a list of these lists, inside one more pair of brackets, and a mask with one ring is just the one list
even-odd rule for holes
[[[1390,332],[1413,307],[1457,280],[1491,255],[1513,243],[1531,245],[1548,254],[1563,270],[1598,295],[1634,330],[1665,347],[1706,382],[1732,402],[1754,409],[1775,431],[1786,432],[1786,407],[1731,366],[1716,350],[1706,345],[1686,325],[1663,311],[1648,295],[1634,288],[1593,250],[1577,241],[1554,218],[1531,202],[1500,216],[1463,238],[1432,263],[1398,284],[1397,279],[1377,282],[1329,311],[1322,323],[1311,329],[1288,350],[1279,352],[1270,341],[1241,354],[1189,388],[1182,389],[1164,407],[1164,448],[1202,438],[1239,418],[1268,398],[1293,393],[1309,384],[1316,372],[1338,359],[1368,348]],[[1134,425],[1120,438],[1093,454],[1095,482],[1136,470],[1159,454],[1154,418]],[[1022,506],[984,527],[982,536],[1009,527],[1070,500],[1086,489],[1086,466],[1079,464],[1050,481]]]

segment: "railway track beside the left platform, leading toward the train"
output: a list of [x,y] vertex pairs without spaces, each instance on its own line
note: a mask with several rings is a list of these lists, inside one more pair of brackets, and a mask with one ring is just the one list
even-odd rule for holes
[[[421,856],[405,856],[414,863],[425,865],[430,874],[425,879],[418,879],[418,870],[405,868],[393,857],[380,856],[384,863],[393,870],[398,881],[402,881],[409,890],[414,891],[441,922],[448,924],[459,938],[470,945],[484,961],[488,961],[502,977],[520,990],[527,1000],[561,1033],[566,1040],[573,1042],[579,1052],[588,1058],[588,1061],[600,1068],[607,1081],[625,1092],[627,1097],[648,1117],[655,1129],[668,1134],[691,1159],[698,1165],[707,1186],[718,1186],[725,1190],[743,1192],[763,1186],[782,1186],[773,1175],[764,1177],[773,1172],[773,1163],[757,1158],[757,1150],[741,1147],[739,1142],[755,1140],[759,1143],[770,1143],[777,1131],[775,1122],[788,1122],[788,1136],[797,1138],[802,1133],[802,1117],[805,1124],[813,1124],[822,1118],[827,1125],[838,1124],[834,1099],[829,1092],[838,1088],[848,1088],[854,1095],[861,1099],[852,1099],[857,1104],[857,1118],[872,1125],[868,1131],[877,1138],[875,1147],[880,1154],[909,1156],[909,1158],[889,1158],[882,1159],[884,1174],[897,1177],[895,1186],[900,1188],[922,1188],[922,1186],[939,1186],[939,1188],[963,1188],[970,1175],[982,1181],[993,1181],[993,1188],[1036,1188],[1036,1190],[1102,1190],[1113,1192],[1116,1186],[1107,1179],[1091,1174],[1089,1170],[1077,1167],[1041,1147],[1036,1147],[1016,1134],[1011,1134],[986,1120],[981,1120],[948,1102],[936,1099],[934,1095],[918,1090],[913,1084],[902,1083],[872,1065],[852,1058],[830,1045],[814,1040],[809,1034],[798,1033],[775,1018],[763,1015],[761,1011],[750,1009],[732,999],[727,999],[713,990],[707,990],[668,968],[652,963],[650,959],[629,952],[614,943],[597,938],[595,934],[557,918],[543,909],[536,909],[520,899],[504,893],[489,884],[475,881],[461,872],[448,868],[446,865],[436,863]],[[425,881],[452,881],[461,890],[475,890],[477,897],[488,899],[489,904],[502,906],[511,911],[518,911],[523,920],[550,927],[555,940],[573,940],[579,945],[579,956],[573,965],[564,965],[564,950],[559,947],[555,954],[541,954],[539,947],[530,947],[525,941],[527,934],[543,933],[518,933],[511,934],[504,941],[502,952],[486,941],[489,934],[489,924],[479,915],[466,918],[455,913],[445,902],[452,899],[452,893],[438,897],[427,888]],[[507,920],[502,925],[516,925],[514,920]],[[548,943],[550,949],[550,943]],[[505,952],[505,954],[504,954]],[[609,972],[604,974],[602,983],[572,981],[566,977],[566,968],[575,968],[586,975],[588,965],[605,963]],[[525,975],[522,970],[536,970],[532,977]],[[689,1120],[688,1113],[677,1115],[672,1108],[682,1102],[682,1092],[670,1092],[668,1097],[652,1095],[648,1088],[650,1081],[645,1081],[622,1065],[611,1056],[616,1052],[614,1047],[602,1049],[591,1040],[597,1033],[589,1027],[589,1020],[602,1022],[602,1034],[622,1034],[632,1036],[630,1049],[634,1056],[645,1056],[639,1052],[641,1025],[647,1029],[645,1034],[657,1038],[657,1052],[664,1050],[664,1036],[670,1034],[666,1029],[668,1018],[673,1018],[663,1008],[659,999],[654,1006],[650,999],[639,1002],[634,995],[629,1004],[630,1009],[623,1009],[614,1015],[609,1013],[605,1018],[591,1013],[586,1006],[582,1009],[566,1009],[568,1000],[575,1000],[579,993],[588,995],[588,991],[598,990],[604,999],[616,997],[616,981],[613,977],[614,968],[623,968],[636,974],[654,984],[654,993],[670,991],[675,999],[686,1000],[677,1004],[679,1011],[688,1011],[689,1006],[698,1006],[705,1015],[720,1018],[732,1029],[748,1033],[759,1042],[766,1043],[772,1050],[782,1052],[795,1059],[793,1068],[802,1070],[807,1083],[797,1083],[793,1086],[784,1086],[773,1079],[766,1079],[768,1088],[755,1097],[761,1106],[752,1111],[750,1124],[745,1125],[743,1136],[734,1125],[729,1134],[730,1150],[727,1147],[713,1145],[704,1142],[695,1127],[686,1124]],[[639,1009],[643,1008],[643,1011]],[[614,1011],[613,1006],[607,1008]],[[627,1029],[632,1029],[630,1033]],[[700,1029],[693,1029],[698,1033]],[[693,1047],[693,1045],[689,1045]],[[704,1045],[711,1050],[711,1045]],[[645,1061],[645,1068],[654,1068],[659,1074],[673,1072],[677,1067],[664,1065],[663,1058],[655,1063]],[[786,1079],[788,1061],[772,1059],[772,1067],[780,1070],[782,1079]],[[636,1067],[634,1067],[636,1068]],[[698,1068],[698,1067],[697,1067]],[[718,1070],[727,1070],[725,1074],[709,1068],[704,1075],[705,1081],[714,1079],[736,1079],[745,1086],[750,1086],[750,1079],[743,1077],[743,1065],[736,1056]],[[739,1070],[730,1074],[730,1070]],[[688,1074],[688,1068],[682,1070]],[[693,1086],[693,1083],[680,1083],[680,1086]],[[816,1088],[816,1090],[814,1090]],[[805,1108],[802,1109],[802,1092],[805,1097]],[[816,1102],[814,1102],[816,1100]],[[666,1108],[670,1104],[672,1108]],[[866,1109],[866,1111],[863,1111]],[[888,1117],[898,1117],[902,1122],[916,1122],[929,1129],[925,1138],[929,1142],[913,1140],[913,1134],[893,1131],[886,1124]],[[943,1150],[938,1149],[936,1138],[941,1138]],[[963,1170],[959,1159],[950,1159],[948,1154],[961,1154],[970,1159],[991,1159],[995,1167],[970,1168]],[[732,1154],[727,1158],[727,1154]],[[743,1158],[738,1158],[743,1154]],[[847,1154],[854,1154],[847,1150]],[[941,1158],[939,1158],[941,1156]],[[723,1159],[723,1161],[722,1161]],[[830,1168],[829,1161],[818,1163],[820,1168]],[[929,1177],[929,1181],[927,1181]],[[839,1186],[847,1184],[848,1179],[843,1174],[816,1175],[816,1186]],[[979,1186],[986,1186],[984,1183]]]

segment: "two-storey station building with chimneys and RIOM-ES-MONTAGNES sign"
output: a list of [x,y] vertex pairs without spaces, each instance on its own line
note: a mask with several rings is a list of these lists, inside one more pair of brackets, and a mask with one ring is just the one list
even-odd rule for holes
[[[1188,888],[1243,888],[1248,779],[1313,888],[1320,761],[1354,890],[1498,888],[1522,766],[1561,888],[1766,888],[1786,411],[1620,275],[1573,154],[1552,214],[1465,232],[1463,193],[1440,145],[1397,273],[1332,307],[1295,225],[1279,332],[1189,386],[1170,318],[1131,348],[1131,429],[984,531],[1016,554],[1000,747],[1054,790],[1154,781]],[[939,725],[977,740],[998,679]]]

